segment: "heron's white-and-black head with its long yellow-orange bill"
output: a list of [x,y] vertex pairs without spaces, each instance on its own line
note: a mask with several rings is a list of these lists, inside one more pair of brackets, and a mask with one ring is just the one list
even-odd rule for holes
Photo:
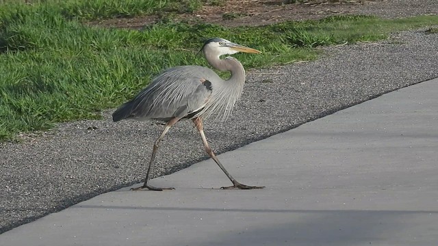
[[201,49],[205,55],[233,55],[238,52],[259,54],[260,51],[240,44],[235,44],[223,38],[210,38]]

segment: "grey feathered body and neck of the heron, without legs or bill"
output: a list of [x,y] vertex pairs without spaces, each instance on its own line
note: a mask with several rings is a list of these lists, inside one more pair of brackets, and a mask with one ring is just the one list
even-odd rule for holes
[[[198,113],[194,117],[202,115],[205,119],[214,113],[221,120],[227,119],[242,94],[245,71],[242,64],[233,57],[220,60],[219,56],[226,53],[214,50],[217,46],[210,46],[212,42],[221,43],[220,47],[224,48],[232,43],[212,38],[203,46],[209,64],[219,70],[230,71],[230,79],[225,81],[213,70],[202,66],[170,68],[153,79],[133,100],[117,109],[113,113],[113,120],[168,120],[185,118],[196,111]],[[207,89],[203,81],[211,83],[211,90]]]

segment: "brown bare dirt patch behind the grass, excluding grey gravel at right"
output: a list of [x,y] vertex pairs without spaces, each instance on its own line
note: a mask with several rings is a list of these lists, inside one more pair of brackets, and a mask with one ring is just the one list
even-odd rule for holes
[[284,20],[304,20],[333,14],[350,14],[357,8],[357,5],[364,3],[361,0],[337,3],[312,1],[293,4],[285,4],[284,0],[225,0],[221,1],[220,5],[207,4],[201,10],[190,14],[164,13],[134,18],[114,18],[93,21],[91,24],[103,27],[141,29],[145,25],[162,20],[162,18],[170,18],[175,21],[185,20],[193,23],[203,21],[226,26],[266,25]]

